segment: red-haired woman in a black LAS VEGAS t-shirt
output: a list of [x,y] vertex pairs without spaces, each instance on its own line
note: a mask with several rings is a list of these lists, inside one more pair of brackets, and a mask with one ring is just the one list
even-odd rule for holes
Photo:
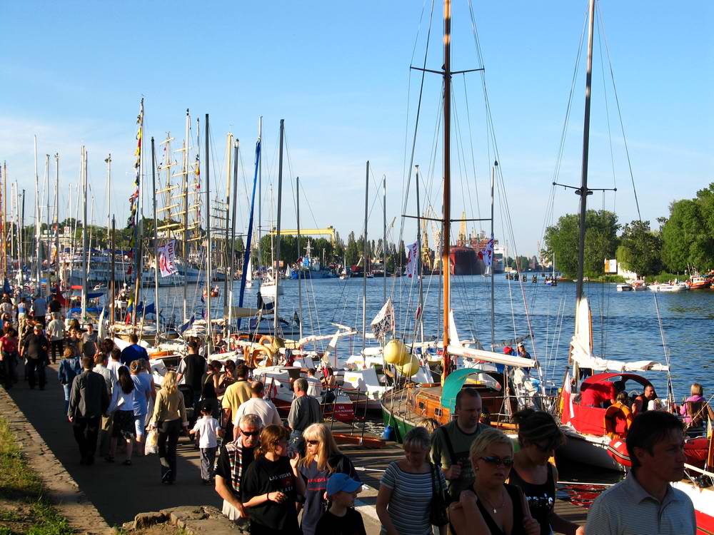
[[261,432],[261,445],[243,480],[243,507],[251,519],[251,534],[300,534],[295,501],[305,493],[298,474],[298,457],[288,460],[285,427],[268,425]]

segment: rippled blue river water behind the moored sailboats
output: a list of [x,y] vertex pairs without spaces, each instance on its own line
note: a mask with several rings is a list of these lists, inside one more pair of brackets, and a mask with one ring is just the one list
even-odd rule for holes
[[[495,338],[503,340],[528,336],[526,347],[537,356],[548,378],[556,384],[563,379],[568,358],[568,343],[573,335],[575,312],[575,284],[561,282],[551,288],[542,279],[534,285],[508,281],[503,275],[494,278]],[[363,279],[321,279],[303,281],[303,334],[334,332],[331,322],[351,325],[361,330]],[[441,314],[438,306],[440,277],[424,277],[424,336],[426,339],[441,333]],[[215,314],[222,310],[221,297],[211,300]],[[298,310],[298,281],[284,280],[285,290],[280,298],[281,315],[289,317]],[[239,284],[235,285],[234,300],[238,302]],[[188,287],[188,302],[196,303],[200,315],[205,305],[200,301],[201,289]],[[665,362],[663,342],[655,308],[655,295],[660,307],[663,332],[670,350],[675,396],[688,395],[689,385],[698,381],[705,393],[714,388],[714,291],[699,290],[660,294],[645,292],[617,292],[614,284],[586,283],[585,293],[590,298],[593,314],[593,345],[595,354],[617,360],[655,360]],[[161,288],[164,317],[172,313],[181,316],[182,290]],[[413,317],[418,301],[416,280],[401,277],[387,279],[387,295],[392,297],[396,310],[396,325],[401,336],[411,337]],[[152,301],[151,297],[149,300]],[[243,305],[256,306],[256,287],[246,290]],[[525,305],[524,305],[525,302]],[[383,279],[367,280],[367,329],[369,322],[383,305]],[[452,277],[451,306],[455,313],[458,333],[462,340],[491,344],[491,279],[488,277]],[[528,315],[526,315],[526,306]],[[535,343],[531,342],[528,319]],[[326,343],[326,342],[325,342]],[[343,354],[361,347],[360,337],[341,339],[338,352]],[[648,372],[647,376],[665,397],[666,377],[662,372]]]

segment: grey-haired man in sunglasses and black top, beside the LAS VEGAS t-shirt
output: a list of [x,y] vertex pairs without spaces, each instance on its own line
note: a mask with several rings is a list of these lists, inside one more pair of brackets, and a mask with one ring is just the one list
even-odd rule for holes
[[260,445],[263,421],[257,414],[245,414],[233,429],[236,438],[223,444],[216,467],[216,492],[223,498],[223,514],[248,533],[248,513],[241,501],[241,483]]

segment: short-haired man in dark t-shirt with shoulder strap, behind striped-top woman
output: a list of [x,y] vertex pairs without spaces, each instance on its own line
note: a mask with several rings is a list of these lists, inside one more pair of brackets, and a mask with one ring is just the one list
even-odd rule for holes
[[473,468],[469,449],[479,432],[481,394],[475,388],[463,388],[456,394],[456,419],[436,429],[431,438],[431,459],[441,467],[448,492],[458,501],[461,491],[471,488]]

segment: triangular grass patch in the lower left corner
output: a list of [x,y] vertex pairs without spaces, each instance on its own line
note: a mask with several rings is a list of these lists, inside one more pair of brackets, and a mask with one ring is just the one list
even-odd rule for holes
[[74,533],[43,491],[42,481],[22,457],[7,420],[0,417],[0,535]]

